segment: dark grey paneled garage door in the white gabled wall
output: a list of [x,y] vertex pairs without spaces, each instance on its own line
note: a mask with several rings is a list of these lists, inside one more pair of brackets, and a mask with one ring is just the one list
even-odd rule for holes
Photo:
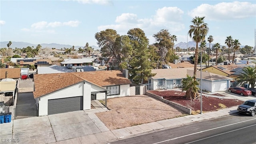
[[62,112],[72,112],[83,109],[83,97],[59,98],[48,100],[48,115]]

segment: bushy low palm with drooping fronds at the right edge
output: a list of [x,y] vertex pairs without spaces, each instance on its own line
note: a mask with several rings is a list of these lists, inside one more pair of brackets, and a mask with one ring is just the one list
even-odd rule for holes
[[244,67],[243,72],[237,77],[239,85],[250,84],[252,88],[256,86],[256,67]]

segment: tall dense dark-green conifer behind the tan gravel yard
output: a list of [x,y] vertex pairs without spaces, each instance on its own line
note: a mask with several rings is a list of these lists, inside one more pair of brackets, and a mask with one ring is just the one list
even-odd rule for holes
[[130,61],[131,78],[136,83],[143,83],[143,80],[148,80],[148,77],[155,75],[151,73],[152,67],[149,60],[148,38],[146,38],[144,31],[140,28],[133,28],[127,34],[134,50],[132,60]]

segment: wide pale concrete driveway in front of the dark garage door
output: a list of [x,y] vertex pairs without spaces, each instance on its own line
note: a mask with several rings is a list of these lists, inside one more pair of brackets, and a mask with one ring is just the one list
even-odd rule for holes
[[98,140],[93,134],[109,131],[94,113],[83,110],[12,120],[0,124],[0,129],[1,138],[18,138],[20,144],[58,143],[72,138],[86,143],[88,138]]

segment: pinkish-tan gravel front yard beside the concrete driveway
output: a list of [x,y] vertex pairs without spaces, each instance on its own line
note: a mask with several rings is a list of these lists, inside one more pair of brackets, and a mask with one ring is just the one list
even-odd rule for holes
[[96,116],[110,130],[184,115],[171,106],[145,95],[109,98],[107,104],[111,111],[96,113]]

